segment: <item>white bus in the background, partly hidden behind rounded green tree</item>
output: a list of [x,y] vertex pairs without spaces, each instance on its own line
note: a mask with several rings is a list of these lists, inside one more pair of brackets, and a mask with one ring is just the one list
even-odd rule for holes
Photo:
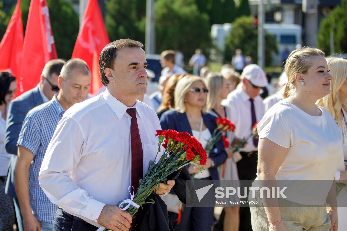
[[[264,29],[266,33],[275,36],[278,44],[278,54],[273,54],[272,65],[282,64],[282,52],[285,47],[288,48],[289,53],[295,50],[295,46],[301,43],[302,27],[297,24],[272,24],[265,23]],[[213,24],[211,27],[211,37],[214,45],[219,51],[225,50],[225,40],[232,30],[232,24]]]

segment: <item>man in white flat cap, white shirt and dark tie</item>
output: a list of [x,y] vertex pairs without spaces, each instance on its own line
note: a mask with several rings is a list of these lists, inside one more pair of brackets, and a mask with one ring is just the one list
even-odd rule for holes
[[[235,136],[247,138],[252,133],[252,127],[260,121],[265,108],[259,92],[268,85],[264,70],[255,64],[247,65],[241,75],[242,86],[229,93],[222,104],[228,106],[231,121],[235,124]],[[242,159],[237,162],[240,180],[254,180],[257,171],[258,139],[250,138],[247,145],[240,149]],[[243,186],[241,184],[241,186]],[[251,185],[244,185],[251,187]],[[240,228],[243,231],[252,231],[251,213],[249,207],[240,207]]]

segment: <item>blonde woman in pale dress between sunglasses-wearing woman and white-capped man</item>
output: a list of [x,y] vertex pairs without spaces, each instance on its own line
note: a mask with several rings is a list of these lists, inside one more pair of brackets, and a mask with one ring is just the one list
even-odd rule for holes
[[[231,120],[229,110],[220,104],[223,99],[227,98],[227,95],[230,92],[230,82],[224,78],[222,74],[211,72],[206,77],[206,84],[209,89],[206,103],[208,112],[216,117],[226,117]],[[225,137],[229,140],[230,145],[229,148],[225,148],[228,154],[228,159],[222,166],[220,166],[219,179],[238,181],[237,166],[233,158],[234,153],[232,152],[231,144],[240,143],[241,140],[234,136],[234,132],[226,132]],[[240,207],[224,207],[225,218],[223,221],[223,230],[239,230],[239,209]]]

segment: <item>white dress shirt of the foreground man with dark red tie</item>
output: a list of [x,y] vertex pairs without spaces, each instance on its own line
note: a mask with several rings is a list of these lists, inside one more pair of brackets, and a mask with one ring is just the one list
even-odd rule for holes
[[[160,122],[141,101],[133,107],[144,175],[158,151],[155,134]],[[127,109],[108,90],[73,105],[59,121],[40,170],[40,186],[54,204],[98,227],[96,219],[105,204],[117,205],[130,198],[131,117]]]

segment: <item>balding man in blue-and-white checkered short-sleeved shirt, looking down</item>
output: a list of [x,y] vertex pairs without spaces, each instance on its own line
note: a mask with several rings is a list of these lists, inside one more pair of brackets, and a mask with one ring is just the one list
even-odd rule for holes
[[59,94],[29,111],[20,131],[15,188],[23,216],[24,230],[53,230],[58,209],[39,185],[39,171],[47,146],[59,120],[72,105],[82,102],[88,92],[91,72],[86,62],[70,59],[58,77]]

